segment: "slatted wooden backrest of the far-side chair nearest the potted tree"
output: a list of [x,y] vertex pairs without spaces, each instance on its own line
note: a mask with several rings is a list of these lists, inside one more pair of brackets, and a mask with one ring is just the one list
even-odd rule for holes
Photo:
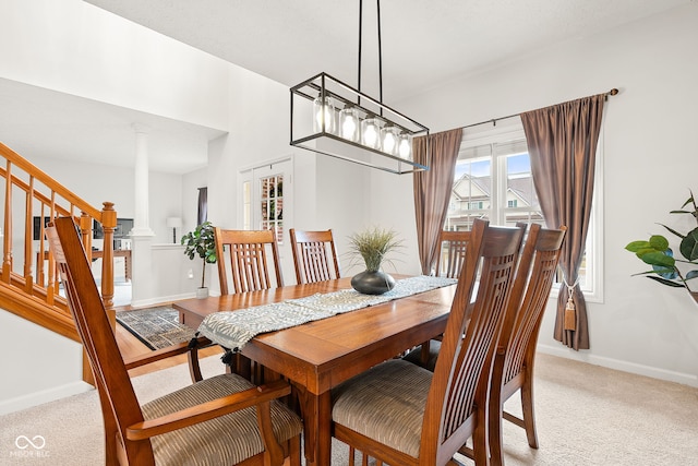
[[[273,230],[225,230],[214,228],[216,239],[216,256],[218,264],[218,278],[220,279],[220,292],[233,295],[245,291],[268,289],[273,286],[284,286],[281,267],[279,264],[279,251],[276,243],[276,235]],[[272,251],[274,274],[276,283],[269,278],[269,253]],[[226,254],[228,251],[228,254]],[[230,277],[226,263],[230,264]]]

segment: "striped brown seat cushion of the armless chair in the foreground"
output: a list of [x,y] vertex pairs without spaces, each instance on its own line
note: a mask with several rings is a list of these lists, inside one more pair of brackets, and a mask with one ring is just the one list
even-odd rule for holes
[[418,457],[432,375],[401,359],[383,362],[333,390],[333,421]]

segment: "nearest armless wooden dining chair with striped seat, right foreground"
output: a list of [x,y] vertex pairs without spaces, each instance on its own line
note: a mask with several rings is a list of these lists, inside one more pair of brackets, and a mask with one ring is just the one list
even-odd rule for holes
[[488,464],[490,374],[522,238],[521,228],[473,223],[434,372],[390,359],[333,390],[333,435],[352,453],[378,464],[455,465],[472,438],[476,465]]

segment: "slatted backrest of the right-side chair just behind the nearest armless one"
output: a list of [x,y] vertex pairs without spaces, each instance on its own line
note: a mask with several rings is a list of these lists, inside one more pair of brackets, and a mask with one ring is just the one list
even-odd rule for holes
[[[566,227],[554,230],[531,225],[514,285],[513,296],[517,296],[518,301],[510,301],[500,339],[500,347],[506,350],[501,351],[506,355],[501,361],[504,365],[503,384],[516,378],[535,354],[538,333],[557,272],[566,231]],[[505,394],[505,399],[508,396],[510,393]]]

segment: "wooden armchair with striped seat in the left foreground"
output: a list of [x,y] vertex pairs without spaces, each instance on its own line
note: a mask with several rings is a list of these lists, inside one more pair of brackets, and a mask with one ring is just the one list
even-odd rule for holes
[[[301,420],[277,398],[290,386],[213,377],[140,405],[128,370],[188,350],[164,348],[124,363],[72,218],[46,229],[99,393],[107,465],[300,466]],[[67,428],[70,425],[67,423]]]

